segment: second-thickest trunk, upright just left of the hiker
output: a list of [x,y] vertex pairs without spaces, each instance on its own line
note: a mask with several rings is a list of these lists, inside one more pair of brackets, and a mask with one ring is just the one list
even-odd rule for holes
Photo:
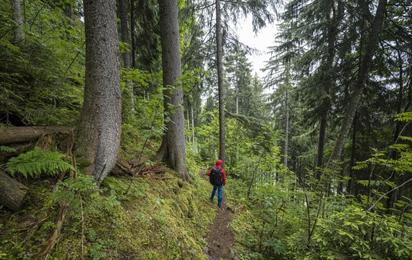
[[[181,77],[180,34],[177,2],[159,1],[160,34],[163,66],[164,109],[166,120],[167,157],[165,161],[189,181],[185,162],[185,117],[183,115],[183,90],[179,86]],[[174,87],[174,90],[170,90]]]

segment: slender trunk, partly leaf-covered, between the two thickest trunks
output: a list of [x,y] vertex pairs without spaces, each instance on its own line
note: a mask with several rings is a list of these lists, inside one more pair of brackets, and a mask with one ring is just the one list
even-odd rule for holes
[[[128,49],[132,49],[132,43],[130,41],[128,33],[128,18],[127,18],[127,4],[126,0],[119,0],[119,16],[120,16],[120,28],[122,31],[122,42],[128,45]],[[126,70],[132,68],[132,55],[130,51],[124,51],[123,53],[124,68]],[[133,81],[126,81],[127,92],[130,98],[131,110],[135,110],[135,99],[133,97]]]

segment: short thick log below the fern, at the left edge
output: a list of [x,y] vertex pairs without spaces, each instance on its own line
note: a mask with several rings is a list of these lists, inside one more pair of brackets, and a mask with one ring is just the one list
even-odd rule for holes
[[0,204],[13,212],[21,210],[29,188],[0,170]]

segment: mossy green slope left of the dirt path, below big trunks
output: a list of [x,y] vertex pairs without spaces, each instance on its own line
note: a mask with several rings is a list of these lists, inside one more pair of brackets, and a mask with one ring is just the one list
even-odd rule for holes
[[[30,181],[27,207],[0,213],[0,259],[207,259],[205,233],[216,209],[209,183],[196,166],[189,170],[192,183],[172,172],[131,185],[130,177],[109,176],[100,189],[79,175],[57,192],[50,180]],[[62,229],[47,255],[64,205]]]

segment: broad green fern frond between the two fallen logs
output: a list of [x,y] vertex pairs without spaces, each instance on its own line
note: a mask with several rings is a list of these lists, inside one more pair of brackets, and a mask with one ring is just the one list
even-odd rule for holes
[[62,153],[43,151],[40,147],[35,147],[33,151],[10,158],[5,167],[12,175],[20,172],[26,178],[74,170],[73,166],[63,161],[63,157],[65,155]]

